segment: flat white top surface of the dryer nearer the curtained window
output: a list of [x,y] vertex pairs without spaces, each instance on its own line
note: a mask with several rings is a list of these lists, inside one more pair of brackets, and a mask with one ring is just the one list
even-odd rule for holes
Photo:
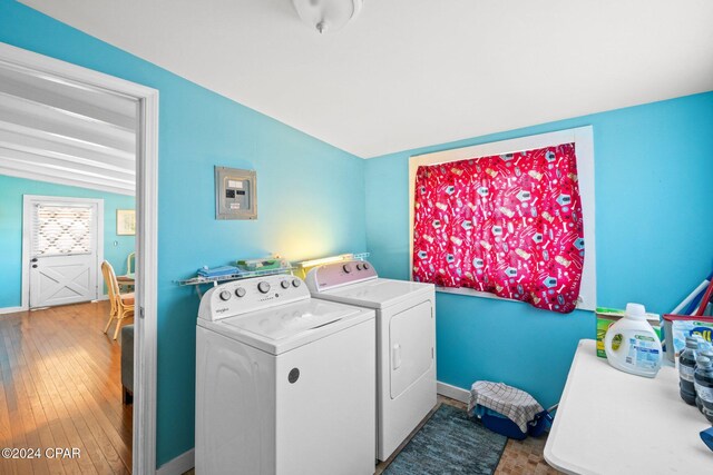
[[377,278],[359,284],[313,294],[318,298],[358,305],[368,308],[384,308],[411,298],[416,293],[436,291],[432,284]]

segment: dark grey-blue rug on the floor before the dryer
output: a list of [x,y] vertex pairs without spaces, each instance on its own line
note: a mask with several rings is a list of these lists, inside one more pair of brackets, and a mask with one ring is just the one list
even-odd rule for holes
[[383,473],[489,475],[507,442],[465,410],[442,404]]

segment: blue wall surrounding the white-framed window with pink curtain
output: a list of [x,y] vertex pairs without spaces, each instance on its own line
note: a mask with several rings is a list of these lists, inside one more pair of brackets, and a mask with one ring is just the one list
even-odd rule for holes
[[[713,92],[424,147],[367,161],[367,246],[383,276],[409,277],[411,155],[592,125],[597,304],[666,313],[713,269]],[[586,226],[586,224],[585,224]],[[438,379],[501,380],[559,399],[589,311],[437,295]]]

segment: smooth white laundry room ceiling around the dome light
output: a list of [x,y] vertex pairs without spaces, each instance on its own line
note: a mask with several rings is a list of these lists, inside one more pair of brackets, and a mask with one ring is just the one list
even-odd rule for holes
[[21,0],[360,157],[713,89],[711,0]]

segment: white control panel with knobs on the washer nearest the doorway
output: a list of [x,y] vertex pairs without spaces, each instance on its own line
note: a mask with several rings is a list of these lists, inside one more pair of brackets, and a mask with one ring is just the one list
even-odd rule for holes
[[206,291],[201,299],[198,318],[216,321],[309,298],[310,290],[299,277],[253,277],[221,284]]

